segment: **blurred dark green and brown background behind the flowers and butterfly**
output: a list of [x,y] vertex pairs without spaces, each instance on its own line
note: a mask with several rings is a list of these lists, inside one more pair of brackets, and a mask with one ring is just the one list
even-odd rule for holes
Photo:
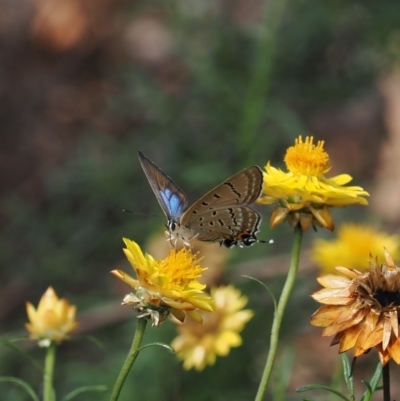
[[[384,159],[382,149],[400,135],[391,123],[400,97],[398,11],[397,0],[0,3],[0,328],[5,338],[24,335],[25,302],[37,305],[49,285],[78,307],[80,333],[58,354],[60,396],[78,385],[111,388],[130,346],[135,319],[119,306],[128,290],[109,271],[130,269],[123,236],[145,248],[165,224],[138,150],[194,201],[246,166],[282,166],[294,138],[312,134],[326,141],[331,174],[349,173],[372,197],[378,192],[385,168],[396,171],[396,159]],[[336,224],[379,221],[398,231],[398,190],[389,188],[386,207],[334,211]],[[241,274],[278,294],[292,240],[288,226],[269,228],[270,209],[259,210],[259,237],[274,244],[230,250],[219,279],[241,288],[256,312],[244,346],[201,373],[184,372],[163,349],[147,349],[121,401],[254,398],[273,309]],[[316,235],[332,237],[310,230],[305,248]],[[309,266],[306,252],[302,264]],[[308,327],[317,272],[304,270],[282,332],[282,349],[300,349],[294,369],[280,375],[289,383],[287,400],[301,399],[295,387],[329,383],[337,352],[326,339],[319,351],[309,346],[320,334]],[[145,342],[174,335],[167,322],[149,328]],[[23,344],[42,358],[42,350]],[[40,391],[40,372],[23,356],[8,347],[0,356],[0,375]],[[0,394],[28,399],[4,383]],[[108,393],[81,399],[106,400]]]

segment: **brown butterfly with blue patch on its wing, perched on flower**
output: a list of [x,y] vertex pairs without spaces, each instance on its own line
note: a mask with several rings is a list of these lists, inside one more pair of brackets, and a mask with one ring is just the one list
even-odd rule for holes
[[261,216],[248,205],[263,190],[263,173],[258,166],[248,167],[225,180],[188,207],[185,193],[159,167],[139,152],[147,180],[165,213],[167,234],[172,242],[180,238],[219,242],[227,248],[250,246],[257,239]]

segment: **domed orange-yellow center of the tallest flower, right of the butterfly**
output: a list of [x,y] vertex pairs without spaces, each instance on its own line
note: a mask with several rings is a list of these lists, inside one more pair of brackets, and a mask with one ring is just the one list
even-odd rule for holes
[[290,172],[296,175],[320,176],[330,169],[324,141],[318,141],[317,145],[313,141],[312,136],[307,136],[305,142],[299,136],[295,145],[288,148],[284,161]]

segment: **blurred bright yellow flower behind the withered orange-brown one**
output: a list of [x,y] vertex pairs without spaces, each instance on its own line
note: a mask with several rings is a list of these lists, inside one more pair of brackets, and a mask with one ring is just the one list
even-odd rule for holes
[[[392,257],[400,257],[400,236],[389,235],[364,224],[343,224],[338,229],[337,239],[314,241],[311,250],[313,259],[323,273],[335,273],[335,266],[351,266],[364,271],[368,268],[370,255],[379,255],[382,249],[390,251]],[[384,262],[383,256],[378,258]]]

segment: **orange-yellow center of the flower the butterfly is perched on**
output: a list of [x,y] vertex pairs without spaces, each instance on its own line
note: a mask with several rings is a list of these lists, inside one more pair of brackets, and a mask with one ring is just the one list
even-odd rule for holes
[[168,257],[160,261],[160,273],[169,278],[170,283],[184,286],[201,277],[203,269],[197,255],[186,248],[171,250]]

